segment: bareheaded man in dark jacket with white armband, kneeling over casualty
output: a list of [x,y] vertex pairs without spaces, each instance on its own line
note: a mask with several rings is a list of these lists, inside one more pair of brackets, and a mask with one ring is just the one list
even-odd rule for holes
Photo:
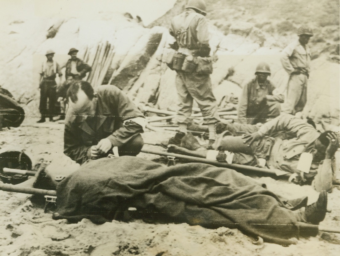
[[95,93],[85,81],[72,83],[67,97],[64,153],[77,163],[108,154],[136,156],[146,126],[143,114],[113,85],[102,85]]

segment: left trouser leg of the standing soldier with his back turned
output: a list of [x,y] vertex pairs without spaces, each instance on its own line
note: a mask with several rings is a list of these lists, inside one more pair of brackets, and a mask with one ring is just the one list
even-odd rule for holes
[[193,98],[187,89],[186,79],[182,72],[177,72],[175,82],[177,95],[180,99],[180,109],[177,111],[177,122],[179,124],[188,124],[191,122],[190,115],[192,112]]

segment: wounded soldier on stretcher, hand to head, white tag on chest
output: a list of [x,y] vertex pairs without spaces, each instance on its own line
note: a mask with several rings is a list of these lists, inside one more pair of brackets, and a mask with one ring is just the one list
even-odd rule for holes
[[[224,129],[221,129],[223,126]],[[199,148],[187,135],[181,145],[168,145],[169,151],[228,163],[265,166],[293,173],[296,183],[310,183],[318,191],[331,190],[332,159],[339,147],[336,133],[320,133],[312,125],[290,114],[282,114],[261,127],[249,124],[218,124],[225,130],[214,144],[216,150]],[[244,132],[243,136],[237,136]],[[233,136],[236,135],[236,136]],[[188,140],[189,139],[189,140]],[[185,141],[190,143],[184,143]],[[193,146],[196,144],[197,146]],[[201,150],[202,149],[202,150]]]

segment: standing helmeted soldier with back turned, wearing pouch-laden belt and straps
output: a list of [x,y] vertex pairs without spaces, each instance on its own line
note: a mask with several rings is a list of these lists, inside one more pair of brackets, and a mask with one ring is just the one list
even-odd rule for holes
[[203,114],[204,124],[209,127],[209,139],[214,140],[214,124],[218,122],[219,116],[216,99],[211,90],[212,63],[209,57],[209,33],[205,15],[205,2],[190,0],[185,12],[172,19],[169,32],[176,42],[170,47],[176,52],[167,63],[177,72],[176,88],[181,101],[177,112],[180,131],[187,131],[195,100]]

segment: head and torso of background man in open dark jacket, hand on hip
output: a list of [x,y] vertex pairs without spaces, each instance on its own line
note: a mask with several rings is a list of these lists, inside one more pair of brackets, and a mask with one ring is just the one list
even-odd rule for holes
[[74,80],[82,80],[86,76],[86,73],[91,71],[91,67],[87,63],[77,58],[77,53],[78,50],[75,48],[71,48],[68,52],[71,59],[66,62],[66,79],[71,76]]

